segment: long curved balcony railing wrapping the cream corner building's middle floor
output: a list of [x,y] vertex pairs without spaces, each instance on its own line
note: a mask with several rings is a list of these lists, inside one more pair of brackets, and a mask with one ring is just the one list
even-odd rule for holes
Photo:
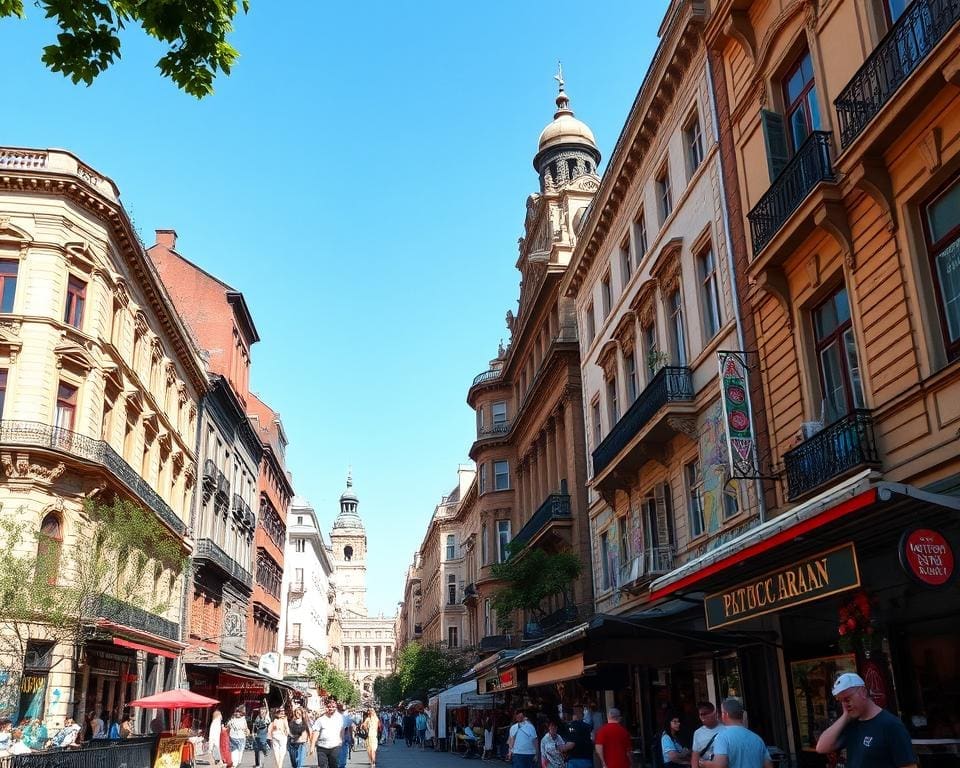
[[110,444],[39,421],[0,421],[0,444],[46,448],[106,467],[171,530],[183,536],[186,525],[149,483]]

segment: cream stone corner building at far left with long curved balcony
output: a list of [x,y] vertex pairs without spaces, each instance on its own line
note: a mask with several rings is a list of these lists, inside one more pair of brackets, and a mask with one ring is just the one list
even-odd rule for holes
[[[60,150],[0,149],[0,169],[2,514],[62,552],[88,535],[84,500],[118,496],[189,555],[207,387],[190,336],[110,179]],[[31,628],[4,714],[79,719],[174,686],[183,574],[154,568],[162,615],[104,595],[79,653]]]

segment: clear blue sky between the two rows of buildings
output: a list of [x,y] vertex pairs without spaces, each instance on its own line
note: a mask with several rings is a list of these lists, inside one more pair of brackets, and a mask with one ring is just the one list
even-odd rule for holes
[[252,0],[239,63],[198,102],[139,30],[90,88],[48,72],[56,30],[27,3],[0,21],[2,142],[75,152],[148,245],[176,229],[243,291],[262,338],[251,387],[283,418],[297,493],[329,529],[353,467],[368,603],[389,614],[467,461],[467,388],[516,311],[556,62],[606,158],[666,4]]

